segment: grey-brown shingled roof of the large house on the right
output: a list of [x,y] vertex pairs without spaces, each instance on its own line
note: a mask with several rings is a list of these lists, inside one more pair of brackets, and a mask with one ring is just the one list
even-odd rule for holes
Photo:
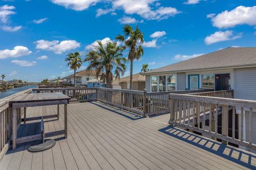
[[188,72],[211,69],[231,69],[234,67],[256,66],[255,47],[229,47],[179,63],[174,63],[144,74],[165,72]]

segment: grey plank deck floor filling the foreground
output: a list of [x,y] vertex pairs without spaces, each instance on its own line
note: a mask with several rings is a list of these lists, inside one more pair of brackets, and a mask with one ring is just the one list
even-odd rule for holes
[[[57,114],[57,106],[30,107],[27,117]],[[170,115],[139,117],[101,103],[68,105],[68,138],[37,153],[34,142],[7,152],[0,169],[255,169],[256,156],[216,141],[172,128]],[[46,132],[64,128],[60,120],[45,120]],[[34,134],[39,123],[27,122],[19,137]]]

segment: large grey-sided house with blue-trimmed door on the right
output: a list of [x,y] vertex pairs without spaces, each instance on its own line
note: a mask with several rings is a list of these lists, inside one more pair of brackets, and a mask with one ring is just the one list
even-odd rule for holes
[[[256,100],[256,48],[226,48],[143,74],[147,91],[233,89],[236,99]],[[248,112],[248,108],[244,110]],[[253,109],[253,121],[256,121],[255,112]],[[236,124],[240,120],[239,115]],[[249,138],[247,122],[249,114],[244,114],[245,139]],[[256,131],[255,123],[253,131]]]

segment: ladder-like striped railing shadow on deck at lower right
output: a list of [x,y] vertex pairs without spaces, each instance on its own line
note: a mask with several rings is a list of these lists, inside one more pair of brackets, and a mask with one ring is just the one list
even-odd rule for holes
[[198,148],[210,151],[211,153],[218,155],[222,158],[231,160],[234,163],[245,166],[250,169],[256,169],[256,156],[241,149],[236,149],[227,145],[223,145],[220,142],[200,137],[199,135],[183,131],[173,126],[167,126],[160,129],[167,135],[170,135],[179,140],[188,142]]

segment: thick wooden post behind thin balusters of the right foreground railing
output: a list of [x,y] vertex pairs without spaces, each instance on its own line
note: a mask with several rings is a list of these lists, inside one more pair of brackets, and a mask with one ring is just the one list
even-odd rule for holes
[[[228,106],[222,105],[222,122],[221,122],[221,134],[228,137]],[[222,140],[222,143],[227,145],[228,142]]]

